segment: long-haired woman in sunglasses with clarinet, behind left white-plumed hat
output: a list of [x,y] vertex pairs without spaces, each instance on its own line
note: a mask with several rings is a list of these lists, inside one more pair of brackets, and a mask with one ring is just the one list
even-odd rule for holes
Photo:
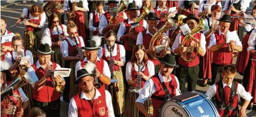
[[66,25],[61,24],[58,14],[53,13],[49,17],[48,28],[45,29],[44,35],[52,38],[52,50],[55,53],[53,54],[51,61],[64,67],[64,59],[60,54],[60,44],[63,39],[68,36],[68,33]]

